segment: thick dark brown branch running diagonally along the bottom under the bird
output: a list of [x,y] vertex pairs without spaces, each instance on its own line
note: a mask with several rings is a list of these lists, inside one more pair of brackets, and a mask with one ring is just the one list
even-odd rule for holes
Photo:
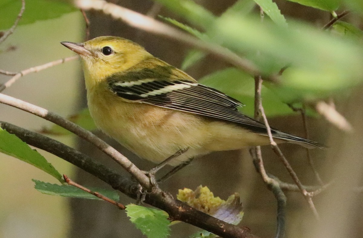
[[[130,178],[125,178],[125,176],[110,170],[101,163],[95,162],[89,156],[84,155],[61,142],[48,138],[45,135],[20,128],[7,122],[0,121],[0,127],[7,130],[9,133],[15,134],[27,144],[59,156],[82,170],[105,181],[114,189],[118,189],[127,196],[136,199],[137,193],[135,189],[132,189],[135,188],[135,181]],[[256,237],[250,233],[248,228],[238,228],[232,224],[228,224],[215,217],[200,212],[184,202],[173,199],[169,193],[163,192],[160,189],[153,189],[153,191],[147,193],[145,202],[166,211],[171,220],[186,222],[220,235],[221,237]]]

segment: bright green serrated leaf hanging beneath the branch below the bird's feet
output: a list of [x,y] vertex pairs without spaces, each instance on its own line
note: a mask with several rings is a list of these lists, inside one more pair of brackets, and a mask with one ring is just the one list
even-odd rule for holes
[[169,235],[170,221],[168,214],[155,208],[146,208],[135,204],[126,206],[130,221],[148,238],[163,238]]

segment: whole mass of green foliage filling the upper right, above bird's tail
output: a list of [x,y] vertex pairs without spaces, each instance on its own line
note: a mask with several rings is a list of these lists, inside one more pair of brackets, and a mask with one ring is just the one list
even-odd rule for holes
[[[160,2],[164,4],[164,1]],[[177,6],[183,5],[183,0],[170,1],[165,5],[186,17],[191,24],[204,29],[203,36],[206,37],[201,39],[222,45],[256,64],[263,77],[277,75],[281,68],[287,66],[280,76],[280,84],[264,85],[263,103],[269,116],[293,113],[285,103],[325,99],[345,93],[347,89],[363,82],[362,34],[356,26],[339,21],[335,23],[334,31],[340,34],[331,34],[330,30],[323,31],[290,19],[286,27],[285,18],[275,3],[268,0],[256,2],[273,21],[265,17],[261,22],[258,12],[250,12],[250,1],[237,1],[220,17],[211,17],[205,22],[197,22],[196,17],[188,18],[181,12]],[[324,0],[297,2],[329,11],[337,9],[340,3]],[[354,0],[347,2],[355,3]],[[186,26],[171,23],[186,29]],[[190,67],[204,55],[199,51],[189,52],[182,64],[183,68]],[[252,75],[231,69],[206,76],[201,83],[249,105],[243,111],[252,115],[252,81]]]

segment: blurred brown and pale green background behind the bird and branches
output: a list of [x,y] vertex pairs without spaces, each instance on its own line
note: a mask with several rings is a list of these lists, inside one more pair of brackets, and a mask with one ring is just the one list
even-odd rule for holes
[[[153,1],[114,0],[113,3],[136,12],[155,17],[158,14],[183,19]],[[220,15],[235,1],[198,0],[215,15]],[[330,20],[326,11],[299,4],[276,1],[286,18],[297,18],[311,22],[321,28]],[[253,11],[258,12],[257,7]],[[129,27],[99,12],[87,12],[90,19],[90,37],[113,35],[131,39],[144,46],[154,56],[180,67],[188,47],[171,39],[155,36]],[[350,21],[362,28],[363,21],[348,15]],[[8,71],[43,64],[72,55],[61,46],[61,41],[82,42],[85,39],[85,23],[80,12],[65,14],[59,18],[38,21],[19,26],[7,41],[0,45],[0,68]],[[188,68],[187,73],[195,79],[211,72],[230,67],[217,57],[207,56]],[[8,78],[0,75],[0,83]],[[311,150],[316,168],[324,182],[335,183],[314,197],[313,201],[321,216],[317,222],[300,193],[287,192],[286,237],[363,237],[362,193],[353,187],[362,185],[363,119],[362,86],[336,101],[337,111],[352,124],[354,133],[347,134],[325,121],[322,117],[309,117],[309,139],[325,143],[327,150]],[[44,107],[62,116],[77,113],[86,107],[83,74],[78,60],[26,75],[4,93]],[[0,104],[0,120],[24,128],[40,131],[51,124],[29,113]],[[269,118],[270,125],[282,131],[303,136],[303,124],[298,113],[292,116]],[[148,170],[153,164],[140,160],[121,148],[105,135],[98,133],[111,145],[141,169]],[[53,136],[54,137],[54,136]],[[83,153],[101,160],[117,169],[117,164],[94,149],[89,143],[71,136],[54,137],[63,143],[78,148]],[[309,168],[306,150],[284,144],[281,150],[306,185],[317,184]],[[78,170],[49,153],[40,151],[45,158],[63,174],[83,185],[105,186],[93,176]],[[282,181],[292,183],[289,174],[269,146],[262,147],[266,170]],[[37,192],[31,179],[57,183],[51,176],[10,156],[0,154],[0,237],[143,237],[132,225],[125,212],[102,201],[65,199]],[[169,169],[169,168],[167,168]],[[123,172],[121,169],[119,171]],[[244,206],[241,225],[247,226],[259,237],[273,237],[276,230],[276,200],[260,175],[254,169],[248,148],[239,151],[213,153],[195,159],[191,165],[162,184],[162,189],[176,195],[184,187],[195,189],[208,186],[215,196],[227,199],[234,192],[240,194]],[[135,202],[121,195],[121,202]],[[171,237],[187,237],[200,229],[188,224],[172,227]]]

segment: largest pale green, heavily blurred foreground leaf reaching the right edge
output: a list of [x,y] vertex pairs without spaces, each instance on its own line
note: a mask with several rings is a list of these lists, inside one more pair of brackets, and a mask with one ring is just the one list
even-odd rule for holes
[[281,63],[288,62],[290,67],[281,77],[286,87],[326,93],[362,82],[363,48],[352,39],[292,21],[286,28],[231,15],[220,19],[214,30],[229,49],[259,52],[253,55],[263,61],[255,62],[266,75],[276,74],[284,66]]

